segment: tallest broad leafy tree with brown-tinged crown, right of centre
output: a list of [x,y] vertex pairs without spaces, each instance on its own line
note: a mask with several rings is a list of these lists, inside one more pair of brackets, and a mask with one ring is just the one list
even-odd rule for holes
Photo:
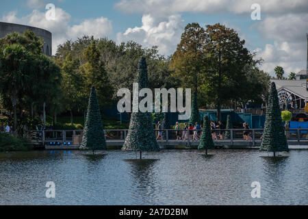
[[220,25],[188,24],[170,68],[179,86],[198,90],[201,107],[242,107],[247,101],[260,104],[268,94],[270,77],[257,64],[233,30]]

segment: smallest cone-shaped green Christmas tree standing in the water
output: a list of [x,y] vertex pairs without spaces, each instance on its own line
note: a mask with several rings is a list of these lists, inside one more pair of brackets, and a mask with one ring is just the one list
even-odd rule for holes
[[209,123],[209,117],[207,115],[203,118],[203,131],[198,149],[205,149],[207,155],[207,149],[215,149],[215,144],[211,138],[211,124]]

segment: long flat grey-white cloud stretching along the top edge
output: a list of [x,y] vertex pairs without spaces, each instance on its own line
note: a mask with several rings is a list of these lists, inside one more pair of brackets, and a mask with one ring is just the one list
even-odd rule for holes
[[180,12],[231,12],[251,13],[251,5],[259,3],[261,12],[283,14],[286,12],[305,12],[307,0],[120,0],[115,7],[126,13],[177,14]]

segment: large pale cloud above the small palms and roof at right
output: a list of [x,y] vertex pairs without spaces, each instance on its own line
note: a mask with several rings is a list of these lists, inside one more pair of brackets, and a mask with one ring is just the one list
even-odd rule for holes
[[258,49],[258,56],[264,59],[262,69],[274,75],[274,67],[282,66],[287,75],[305,69],[307,58],[308,14],[285,14],[269,16],[257,25],[264,38],[272,39],[264,49]]

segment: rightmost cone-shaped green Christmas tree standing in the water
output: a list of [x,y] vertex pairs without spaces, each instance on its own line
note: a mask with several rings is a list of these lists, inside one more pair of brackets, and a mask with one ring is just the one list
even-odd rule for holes
[[270,86],[268,107],[266,109],[266,122],[260,151],[272,151],[274,156],[277,151],[289,151],[281,119],[278,94],[274,82],[272,82]]

